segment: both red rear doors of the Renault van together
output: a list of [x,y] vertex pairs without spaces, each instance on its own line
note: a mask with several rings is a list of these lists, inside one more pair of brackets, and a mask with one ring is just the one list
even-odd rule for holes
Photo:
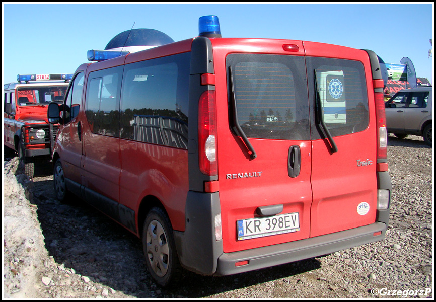
[[224,252],[374,222],[377,136],[366,52],[239,39],[224,53],[227,40],[219,40],[212,44],[215,66],[226,67],[215,67]]

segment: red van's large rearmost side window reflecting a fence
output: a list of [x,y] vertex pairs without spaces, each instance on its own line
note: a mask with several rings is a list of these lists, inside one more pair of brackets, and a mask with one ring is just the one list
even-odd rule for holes
[[189,53],[125,66],[120,137],[188,148]]

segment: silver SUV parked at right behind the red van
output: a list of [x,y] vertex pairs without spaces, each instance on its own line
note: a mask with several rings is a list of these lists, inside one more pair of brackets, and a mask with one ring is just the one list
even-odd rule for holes
[[403,89],[397,92],[385,103],[388,133],[400,138],[408,134],[419,135],[431,146],[431,106],[431,87]]

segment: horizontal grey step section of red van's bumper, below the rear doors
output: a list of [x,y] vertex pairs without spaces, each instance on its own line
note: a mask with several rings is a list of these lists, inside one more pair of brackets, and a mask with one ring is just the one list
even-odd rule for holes
[[[382,240],[387,225],[375,222],[359,228],[317,236],[313,238],[261,247],[246,251],[223,253],[218,258],[214,275],[224,276],[239,274],[260,268],[290,263],[317,257],[336,251],[352,248],[362,244]],[[374,233],[379,235],[374,235]],[[235,267],[236,262],[248,261],[248,264]]]

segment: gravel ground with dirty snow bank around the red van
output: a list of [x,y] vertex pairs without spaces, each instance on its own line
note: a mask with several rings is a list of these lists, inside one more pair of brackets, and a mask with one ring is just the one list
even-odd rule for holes
[[433,297],[432,148],[421,137],[389,136],[385,240],[233,276],[187,272],[172,289],[154,284],[136,237],[80,200],[55,199],[50,165],[29,181],[7,160],[6,298]]

